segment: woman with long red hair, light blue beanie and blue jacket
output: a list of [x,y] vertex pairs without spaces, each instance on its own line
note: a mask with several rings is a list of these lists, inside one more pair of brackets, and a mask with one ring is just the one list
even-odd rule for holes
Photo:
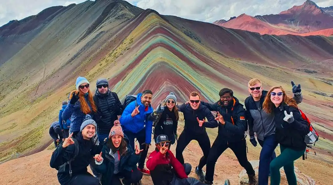
[[69,134],[74,133],[74,135],[80,132],[81,124],[86,115],[89,114],[93,117],[97,112],[93,94],[89,89],[89,81],[85,77],[79,76],[75,85],[76,90],[71,92],[71,100],[62,114],[63,120],[71,119]]

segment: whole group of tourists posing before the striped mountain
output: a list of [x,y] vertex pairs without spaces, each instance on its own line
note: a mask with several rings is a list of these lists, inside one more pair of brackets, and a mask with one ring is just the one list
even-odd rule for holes
[[[202,101],[193,91],[187,102],[178,105],[176,95],[170,92],[153,109],[151,90],[127,95],[122,104],[107,79],[97,80],[93,94],[89,81],[78,77],[76,90],[69,94],[68,102],[62,103],[59,121],[50,127],[56,146],[50,166],[58,170],[61,185],[137,185],[143,174],[150,175],[155,185],[213,184],[215,163],[230,148],[245,168],[249,185],[268,185],[269,175],[271,185],[280,184],[282,166],[288,184],[296,185],[293,162],[305,152],[309,125],[297,108],[302,101],[300,84],[291,83],[293,98],[281,86],[263,90],[261,81],[254,78],[248,82],[250,96],[244,106],[231,89],[223,88],[215,103]],[[178,137],[179,112],[184,116],[184,129]],[[206,128],[216,127],[217,137],[210,145]],[[247,130],[250,142],[257,145],[256,133],[262,146],[258,182],[246,156]],[[155,150],[146,169],[152,135]],[[203,153],[194,170],[199,180],[188,177],[192,167],[182,154],[191,140],[198,142]],[[174,155],[170,147],[176,141]],[[278,144],[281,154],[276,156]],[[206,172],[202,170],[205,165]]]

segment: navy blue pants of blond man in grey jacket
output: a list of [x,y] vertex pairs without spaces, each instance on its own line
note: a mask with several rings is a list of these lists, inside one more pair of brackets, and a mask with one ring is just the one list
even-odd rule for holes
[[262,147],[259,157],[258,184],[268,185],[269,164],[276,158],[274,150],[278,143],[275,140],[275,134],[267,136],[263,141],[258,139],[258,142]]

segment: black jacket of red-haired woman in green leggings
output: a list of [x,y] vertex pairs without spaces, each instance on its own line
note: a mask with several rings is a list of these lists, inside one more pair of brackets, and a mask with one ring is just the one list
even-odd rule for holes
[[[285,117],[284,111],[293,113],[294,122],[288,123],[283,120]],[[276,127],[276,140],[281,146],[291,148],[293,150],[304,150],[306,143],[304,142],[305,135],[310,132],[308,122],[305,121],[299,110],[282,103],[279,107],[274,108],[274,120]]]

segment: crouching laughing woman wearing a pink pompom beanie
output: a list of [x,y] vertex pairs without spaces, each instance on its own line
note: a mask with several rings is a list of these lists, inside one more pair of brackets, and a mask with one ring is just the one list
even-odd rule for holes
[[96,171],[102,174],[102,185],[141,184],[142,173],[137,163],[142,150],[133,151],[127,136],[124,136],[120,122],[116,120],[109,138],[104,140],[102,152],[95,155]]

